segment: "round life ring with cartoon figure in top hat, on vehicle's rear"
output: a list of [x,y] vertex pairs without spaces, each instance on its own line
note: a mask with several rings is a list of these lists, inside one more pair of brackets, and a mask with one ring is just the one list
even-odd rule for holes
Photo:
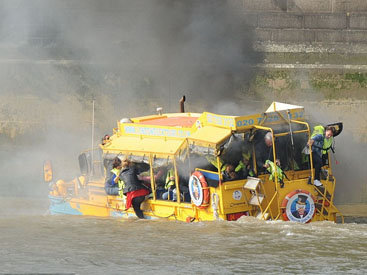
[[285,196],[281,205],[283,220],[308,223],[315,216],[315,198],[306,190],[297,189]]

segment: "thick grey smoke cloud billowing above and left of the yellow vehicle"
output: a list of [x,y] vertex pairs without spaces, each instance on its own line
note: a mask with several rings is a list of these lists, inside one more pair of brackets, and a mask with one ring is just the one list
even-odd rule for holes
[[45,159],[78,173],[93,99],[101,137],[183,94],[189,111],[214,110],[262,60],[241,1],[5,0],[0,14],[1,195],[45,196]]

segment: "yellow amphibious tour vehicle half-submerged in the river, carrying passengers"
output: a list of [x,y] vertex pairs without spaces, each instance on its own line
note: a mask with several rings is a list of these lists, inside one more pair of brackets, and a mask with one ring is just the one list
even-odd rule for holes
[[139,167],[139,179],[149,182],[145,218],[336,221],[342,215],[333,204],[330,156],[317,188],[305,147],[312,130],[304,117],[302,106],[273,102],[245,116],[181,112],[122,119],[104,145],[79,156],[78,178],[54,182],[45,163],[50,212],[135,216],[122,194],[105,192],[112,161],[127,157]]

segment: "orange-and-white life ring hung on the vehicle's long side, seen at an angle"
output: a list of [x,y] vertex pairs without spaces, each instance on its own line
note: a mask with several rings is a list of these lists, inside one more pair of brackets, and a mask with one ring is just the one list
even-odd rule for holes
[[202,209],[209,206],[210,194],[208,183],[204,175],[199,171],[192,173],[189,180],[189,191],[193,204]]

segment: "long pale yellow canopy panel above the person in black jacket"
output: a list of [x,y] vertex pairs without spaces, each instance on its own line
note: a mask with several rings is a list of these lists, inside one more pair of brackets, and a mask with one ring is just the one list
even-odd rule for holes
[[141,138],[139,136],[115,137],[113,142],[104,146],[105,151],[135,152],[141,154],[175,154],[184,140],[164,138]]

